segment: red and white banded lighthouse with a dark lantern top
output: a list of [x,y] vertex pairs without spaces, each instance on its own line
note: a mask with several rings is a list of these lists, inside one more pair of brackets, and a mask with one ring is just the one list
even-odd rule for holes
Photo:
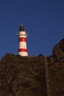
[[17,34],[17,37],[19,39],[18,55],[28,56],[27,42],[26,42],[27,33],[26,33],[25,27],[23,25],[21,25],[19,27],[19,32]]

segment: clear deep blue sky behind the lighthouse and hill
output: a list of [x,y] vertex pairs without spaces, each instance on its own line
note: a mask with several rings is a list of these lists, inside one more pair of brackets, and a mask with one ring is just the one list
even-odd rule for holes
[[0,58],[17,54],[21,24],[28,34],[30,56],[52,54],[64,38],[64,0],[0,0]]

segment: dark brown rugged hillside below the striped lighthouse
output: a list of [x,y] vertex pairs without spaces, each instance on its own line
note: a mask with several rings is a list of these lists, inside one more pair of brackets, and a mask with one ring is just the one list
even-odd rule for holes
[[49,57],[6,54],[0,60],[0,96],[64,96],[64,39]]

